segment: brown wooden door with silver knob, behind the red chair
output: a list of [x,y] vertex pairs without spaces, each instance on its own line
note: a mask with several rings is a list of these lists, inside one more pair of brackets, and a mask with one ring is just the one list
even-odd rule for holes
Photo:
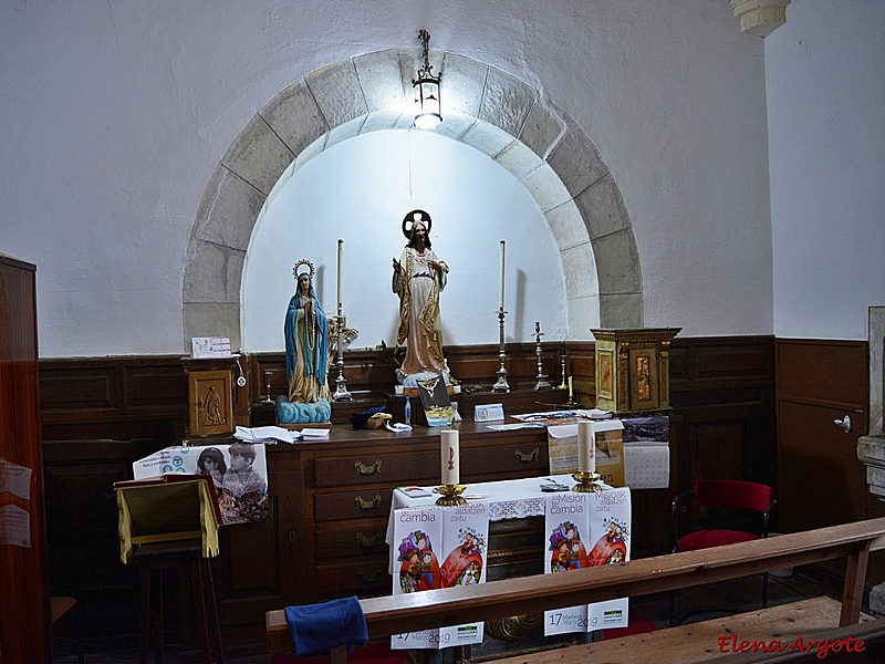
[[[866,518],[857,438],[867,423],[865,342],[779,340],[778,523],[784,532]],[[834,424],[848,415],[852,429]]]

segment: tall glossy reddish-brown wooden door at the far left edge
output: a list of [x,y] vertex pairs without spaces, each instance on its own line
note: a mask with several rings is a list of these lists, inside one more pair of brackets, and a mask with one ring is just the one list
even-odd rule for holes
[[35,272],[0,256],[0,664],[52,656]]

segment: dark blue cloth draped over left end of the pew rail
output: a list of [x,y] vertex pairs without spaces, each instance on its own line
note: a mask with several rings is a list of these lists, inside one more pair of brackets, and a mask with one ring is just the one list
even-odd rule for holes
[[326,655],[340,645],[352,653],[354,645],[364,646],[368,641],[366,619],[355,596],[287,606],[285,621],[296,657]]

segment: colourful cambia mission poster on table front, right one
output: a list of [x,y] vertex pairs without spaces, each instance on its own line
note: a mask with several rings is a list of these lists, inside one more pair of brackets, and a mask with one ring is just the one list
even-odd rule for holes
[[[548,496],[544,572],[556,574],[629,559],[629,489]],[[627,626],[627,599],[544,612],[544,635]]]

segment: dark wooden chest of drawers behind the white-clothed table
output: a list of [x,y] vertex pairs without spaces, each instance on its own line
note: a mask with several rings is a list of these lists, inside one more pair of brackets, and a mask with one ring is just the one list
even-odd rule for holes
[[[462,423],[461,481],[548,473],[546,432]],[[439,429],[336,425],[329,440],[268,453],[270,517],[221,541],[225,644],[261,643],[268,609],[391,592],[384,541],[393,490],[439,481]],[[502,553],[507,559],[507,552]]]

